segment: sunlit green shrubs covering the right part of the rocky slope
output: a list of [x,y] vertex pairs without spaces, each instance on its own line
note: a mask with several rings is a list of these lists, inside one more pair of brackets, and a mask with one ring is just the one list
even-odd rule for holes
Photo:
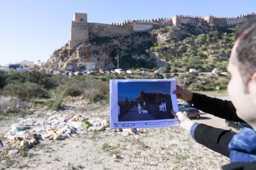
[[167,26],[151,31],[152,36],[165,38],[154,42],[150,52],[165,59],[171,68],[177,68],[175,72],[189,68],[204,71],[214,67],[225,71],[236,29],[208,24]]

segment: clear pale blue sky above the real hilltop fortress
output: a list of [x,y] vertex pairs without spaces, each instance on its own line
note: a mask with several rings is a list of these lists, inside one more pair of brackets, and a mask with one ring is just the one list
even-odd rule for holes
[[69,41],[73,13],[109,24],[175,14],[236,17],[255,7],[255,0],[0,0],[0,65],[47,61]]

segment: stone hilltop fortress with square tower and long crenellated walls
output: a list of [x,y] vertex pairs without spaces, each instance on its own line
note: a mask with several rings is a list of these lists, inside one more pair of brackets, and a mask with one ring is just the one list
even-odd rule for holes
[[180,24],[200,24],[207,22],[217,26],[236,26],[247,21],[256,14],[241,15],[238,17],[214,17],[206,15],[204,17],[191,15],[174,15],[170,18],[158,18],[152,20],[127,20],[122,23],[100,24],[88,23],[86,13],[74,13],[69,48],[76,48],[79,44],[89,41],[94,37],[111,37],[117,35],[129,35],[134,32],[150,31],[153,29]]

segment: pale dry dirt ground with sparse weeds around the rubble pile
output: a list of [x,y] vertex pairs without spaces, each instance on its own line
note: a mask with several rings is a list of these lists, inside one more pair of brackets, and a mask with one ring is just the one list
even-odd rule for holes
[[[227,93],[206,93],[209,96],[228,99]],[[109,120],[107,103],[87,104],[75,100],[65,104],[65,110],[54,114],[89,116]],[[45,111],[37,111],[27,117],[48,117]],[[202,114],[196,122],[224,128],[224,120]],[[4,134],[17,122],[17,117],[0,119],[0,170],[115,170],[115,169],[168,169],[168,170],[217,170],[229,163],[229,159],[198,144],[180,127],[146,128],[139,135],[124,132],[85,131],[65,140],[41,140],[31,149],[15,148],[7,144]]]

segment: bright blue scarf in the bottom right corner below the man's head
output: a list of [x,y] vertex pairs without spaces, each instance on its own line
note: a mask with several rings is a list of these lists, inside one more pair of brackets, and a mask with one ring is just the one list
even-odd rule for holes
[[256,131],[243,128],[228,144],[231,162],[256,161]]

